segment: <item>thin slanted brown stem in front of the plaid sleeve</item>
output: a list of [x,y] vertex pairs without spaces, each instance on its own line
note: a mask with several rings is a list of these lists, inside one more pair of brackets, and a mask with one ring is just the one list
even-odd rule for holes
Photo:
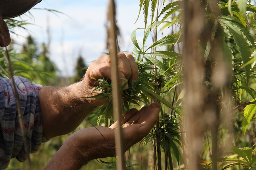
[[[1,17],[0,17],[0,19],[1,19]],[[1,31],[1,34],[4,35],[4,31],[2,30],[1,25],[3,25],[3,23],[0,23],[0,31]],[[2,37],[2,39],[4,40],[5,37]],[[24,123],[23,123],[22,114],[21,114],[21,110],[20,110],[19,95],[18,95],[16,86],[15,86],[15,82],[14,82],[14,78],[13,78],[12,64],[11,64],[10,55],[8,53],[7,47],[5,47],[5,51],[6,51],[6,55],[4,53],[3,54],[7,59],[8,68],[9,68],[9,72],[10,72],[9,78],[11,79],[12,84],[13,84],[13,92],[14,92],[14,95],[15,95],[15,101],[16,101],[16,105],[17,105],[17,112],[18,112],[18,116],[19,116],[20,128],[21,128],[22,138],[23,138],[23,141],[24,141],[24,148],[25,148],[25,151],[26,151],[28,167],[29,167],[29,170],[32,170],[32,168],[31,168],[31,159],[30,159],[30,155],[29,155],[29,148],[28,148],[28,145],[27,145],[25,128],[24,128]]]

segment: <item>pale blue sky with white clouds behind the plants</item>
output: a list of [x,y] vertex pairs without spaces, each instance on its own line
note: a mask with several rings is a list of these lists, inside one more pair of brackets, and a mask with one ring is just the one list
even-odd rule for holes
[[[33,23],[27,28],[29,34],[36,38],[40,45],[47,42],[47,27],[50,30],[50,59],[56,63],[61,75],[73,74],[75,62],[79,54],[89,65],[106,52],[106,10],[108,0],[42,0],[35,8],[54,9],[61,13],[46,10],[31,9],[34,19],[26,13],[23,18]],[[130,34],[138,27],[143,27],[143,14],[135,23],[139,12],[139,0],[116,0],[117,24],[121,31],[121,51],[131,52],[133,44]],[[26,37],[25,30],[16,30]],[[22,36],[11,35],[18,43],[25,41]],[[142,39],[138,35],[138,41]]]

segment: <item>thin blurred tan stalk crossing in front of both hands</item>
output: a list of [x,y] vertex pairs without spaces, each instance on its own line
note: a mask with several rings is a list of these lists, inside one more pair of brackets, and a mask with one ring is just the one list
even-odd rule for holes
[[108,28],[108,47],[111,59],[111,82],[112,82],[112,98],[114,119],[118,121],[117,129],[115,130],[117,170],[124,170],[124,147],[123,133],[121,127],[122,107],[121,107],[121,92],[118,78],[118,58],[117,58],[117,27],[116,27],[116,5],[114,0],[110,0],[108,7],[108,20],[110,27]]

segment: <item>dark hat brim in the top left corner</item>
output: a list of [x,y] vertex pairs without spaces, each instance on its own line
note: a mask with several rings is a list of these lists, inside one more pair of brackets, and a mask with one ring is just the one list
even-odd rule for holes
[[24,14],[42,0],[0,0],[0,18],[14,18]]

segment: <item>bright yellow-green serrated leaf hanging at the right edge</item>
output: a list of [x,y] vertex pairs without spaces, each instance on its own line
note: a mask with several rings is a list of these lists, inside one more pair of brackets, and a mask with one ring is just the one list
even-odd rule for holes
[[245,108],[244,108],[244,117],[242,120],[242,127],[243,127],[244,135],[245,135],[245,132],[246,132],[246,129],[247,129],[249,123],[252,120],[252,116],[255,114],[255,111],[256,111],[256,104],[250,104],[250,105],[245,106]]

